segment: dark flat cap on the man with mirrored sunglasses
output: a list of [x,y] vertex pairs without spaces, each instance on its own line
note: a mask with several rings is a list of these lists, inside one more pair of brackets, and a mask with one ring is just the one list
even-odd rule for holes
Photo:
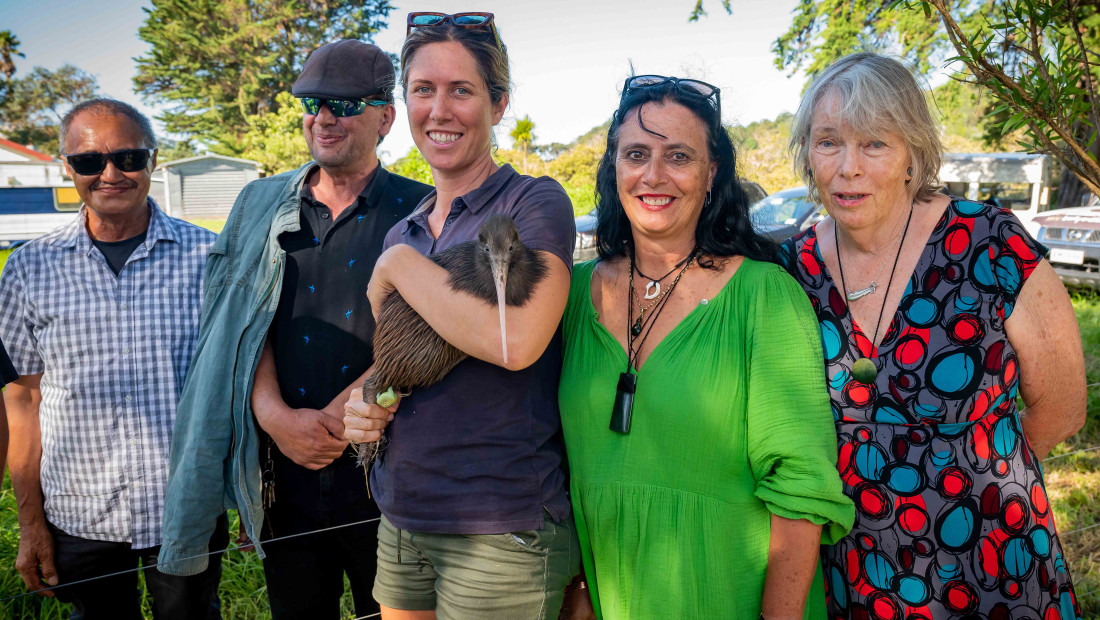
[[389,56],[370,43],[343,38],[326,43],[306,60],[290,92],[295,97],[394,100],[396,73]]

